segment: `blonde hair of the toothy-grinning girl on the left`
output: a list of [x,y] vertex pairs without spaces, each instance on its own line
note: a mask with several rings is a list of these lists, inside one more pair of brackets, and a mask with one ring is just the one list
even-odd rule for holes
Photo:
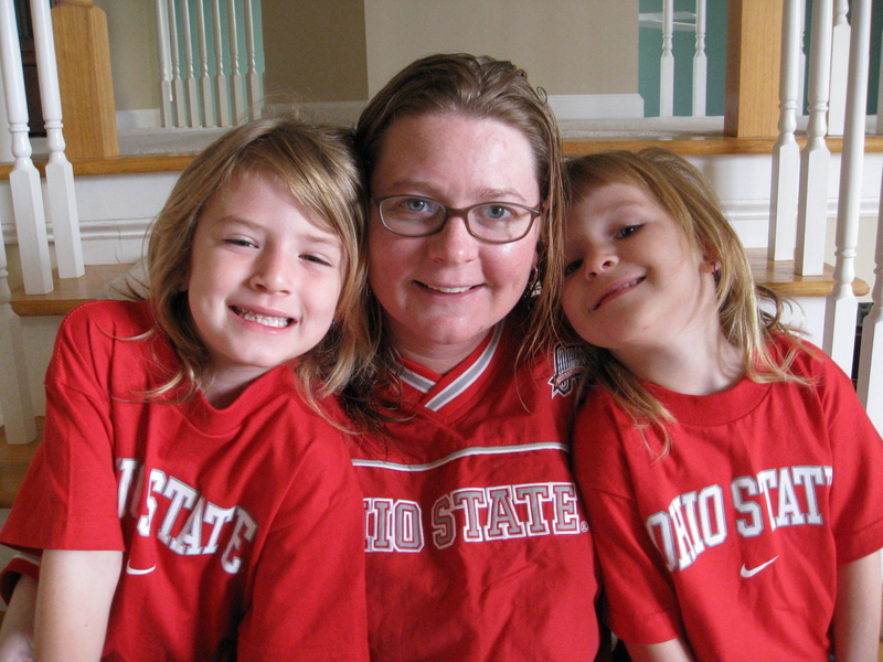
[[341,129],[309,125],[290,115],[249,121],[225,132],[181,173],[153,225],[148,246],[149,292],[158,328],[168,335],[181,370],[160,393],[184,388],[192,396],[206,376],[210,355],[182,291],[193,236],[205,205],[233,178],[269,177],[281,182],[310,220],[340,238],[343,277],[331,331],[298,361],[304,392],[340,388],[370,360],[364,309],[364,209],[361,174],[351,137]]

